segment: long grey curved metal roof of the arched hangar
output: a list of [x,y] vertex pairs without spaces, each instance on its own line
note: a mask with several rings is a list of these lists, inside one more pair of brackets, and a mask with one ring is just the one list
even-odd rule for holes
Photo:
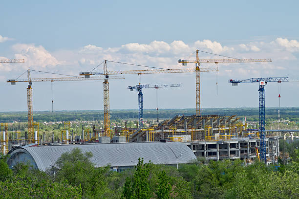
[[[13,166],[19,161],[30,161],[31,164],[45,171],[65,152],[78,147],[82,152],[92,152],[97,167],[109,164],[114,166],[134,166],[138,158],[154,164],[188,163],[196,159],[192,150],[181,142],[129,142],[107,144],[47,145],[16,148],[9,152],[8,163]],[[176,158],[177,157],[177,158]]]

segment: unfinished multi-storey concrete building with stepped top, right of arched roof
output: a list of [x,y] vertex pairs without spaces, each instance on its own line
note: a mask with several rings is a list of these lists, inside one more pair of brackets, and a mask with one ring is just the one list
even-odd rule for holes
[[[184,142],[194,155],[207,160],[241,159],[248,164],[258,158],[258,131],[248,131],[245,121],[233,116],[176,116],[158,125],[132,131],[122,129],[118,136],[131,141],[170,140]],[[275,163],[279,156],[279,137],[266,138],[266,158]]]

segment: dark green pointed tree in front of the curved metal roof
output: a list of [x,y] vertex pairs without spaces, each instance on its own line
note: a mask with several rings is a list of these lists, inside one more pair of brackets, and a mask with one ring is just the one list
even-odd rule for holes
[[149,199],[152,193],[149,189],[149,163],[143,163],[143,158],[138,159],[138,164],[135,166],[136,171],[133,178],[127,178],[124,190],[123,199]]

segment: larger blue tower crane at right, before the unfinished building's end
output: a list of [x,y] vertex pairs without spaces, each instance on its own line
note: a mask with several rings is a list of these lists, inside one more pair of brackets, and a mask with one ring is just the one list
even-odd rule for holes
[[267,82],[282,82],[289,81],[289,78],[251,78],[247,80],[229,80],[233,86],[237,86],[238,83],[254,83],[259,82],[258,89],[258,104],[259,104],[259,152],[260,159],[267,161],[266,159],[266,119],[265,119],[265,89],[264,86]]

